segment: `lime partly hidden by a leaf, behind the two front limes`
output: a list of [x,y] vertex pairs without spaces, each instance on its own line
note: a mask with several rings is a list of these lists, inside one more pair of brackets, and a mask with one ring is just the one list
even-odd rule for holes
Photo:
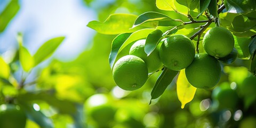
[[141,58],[143,61],[145,61],[146,65],[148,67],[148,72],[153,73],[154,71],[161,68],[163,63],[161,62],[161,60],[159,58],[159,51],[157,48],[153,52],[151,52],[150,55],[147,55],[147,53],[144,50],[145,43],[146,43],[146,39],[141,39],[141,40],[135,42],[132,45],[129,53],[131,55],[135,55],[135,56]]

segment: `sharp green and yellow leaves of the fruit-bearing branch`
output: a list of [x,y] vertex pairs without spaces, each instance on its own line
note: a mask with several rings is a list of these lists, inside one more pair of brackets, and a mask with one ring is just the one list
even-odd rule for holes
[[[118,34],[112,42],[109,56],[111,68],[116,60],[127,54],[131,45],[139,39],[146,39],[145,52],[148,55],[158,43],[172,34],[190,37],[196,45],[197,53],[199,50],[204,52],[202,38],[205,30],[221,26],[228,28],[233,33],[235,49],[227,57],[218,60],[226,65],[233,63],[236,58],[250,59],[250,71],[255,74],[255,1],[156,0],[156,6],[160,10],[167,11],[166,14],[145,12],[137,16],[117,13],[111,14],[104,22],[89,22],[87,26],[98,33]],[[171,82],[177,81],[177,94],[183,108],[193,99],[196,92],[196,88],[187,82],[183,72],[181,70],[178,73],[178,71],[164,68],[151,92],[151,99],[161,96]]]

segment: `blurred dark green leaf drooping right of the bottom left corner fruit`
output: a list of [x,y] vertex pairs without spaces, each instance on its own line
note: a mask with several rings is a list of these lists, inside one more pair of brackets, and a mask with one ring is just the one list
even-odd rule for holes
[[20,107],[25,110],[27,117],[36,122],[42,128],[51,128],[53,126],[53,122],[50,118],[46,117],[41,111],[36,111],[32,105],[28,105],[26,103],[21,103]]

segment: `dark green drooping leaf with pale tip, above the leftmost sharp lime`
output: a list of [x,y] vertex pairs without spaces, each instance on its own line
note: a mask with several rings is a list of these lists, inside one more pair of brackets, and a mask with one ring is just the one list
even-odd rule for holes
[[120,47],[123,45],[123,43],[126,41],[126,39],[131,34],[132,33],[120,34],[120,35],[116,36],[113,39],[112,47],[111,47],[111,52],[110,52],[110,55],[109,55],[109,64],[110,64],[111,68],[113,68],[113,66],[114,66],[114,62],[116,60],[118,50],[120,49]]

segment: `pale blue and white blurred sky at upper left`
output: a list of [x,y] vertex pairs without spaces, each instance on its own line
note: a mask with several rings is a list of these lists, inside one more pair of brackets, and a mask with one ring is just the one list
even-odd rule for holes
[[[0,12],[10,0],[0,0]],[[17,49],[17,33],[23,34],[23,45],[34,54],[47,40],[66,36],[54,58],[74,60],[90,44],[95,31],[86,27],[97,20],[97,12],[82,0],[20,0],[20,10],[0,34],[0,53]]]

